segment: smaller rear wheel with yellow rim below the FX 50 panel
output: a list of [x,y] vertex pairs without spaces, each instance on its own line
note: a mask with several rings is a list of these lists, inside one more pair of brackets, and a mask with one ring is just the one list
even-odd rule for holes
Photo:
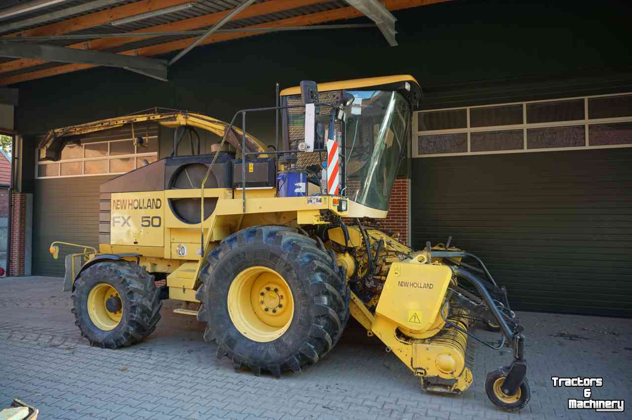
[[75,281],[71,312],[90,345],[118,349],[154,332],[161,317],[159,295],[152,276],[135,262],[97,262]]

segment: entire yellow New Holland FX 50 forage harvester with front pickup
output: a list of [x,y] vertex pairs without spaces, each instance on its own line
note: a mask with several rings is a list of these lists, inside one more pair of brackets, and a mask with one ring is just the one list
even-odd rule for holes
[[[156,109],[53,130],[40,145],[49,159],[67,137],[174,128],[171,156],[102,184],[99,250],[66,257],[64,290],[83,336],[131,345],[154,331],[162,299],[181,300],[176,312],[206,323],[218,357],[280,376],[317,363],[353,316],[428,392],[473,383],[473,342],[513,348],[485,390],[502,409],[525,407],[525,338],[504,287],[451,240],[415,251],[380,228],[420,98],[406,75],[302,82],[231,123]],[[246,131],[260,111],[276,113],[274,147]],[[202,153],[198,130],[221,138],[212,152]],[[480,337],[477,325],[501,340]]]

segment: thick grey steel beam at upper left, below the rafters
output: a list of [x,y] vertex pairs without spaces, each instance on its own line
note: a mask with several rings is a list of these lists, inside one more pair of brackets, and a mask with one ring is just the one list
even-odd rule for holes
[[80,63],[119,67],[159,80],[167,80],[167,61],[111,52],[90,51],[42,44],[0,40],[0,57],[35,58],[61,63]]

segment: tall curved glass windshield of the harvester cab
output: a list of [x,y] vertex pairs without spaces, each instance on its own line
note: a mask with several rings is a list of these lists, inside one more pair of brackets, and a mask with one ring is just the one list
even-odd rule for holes
[[349,199],[387,210],[391,189],[406,154],[410,105],[398,92],[348,90],[346,188]]

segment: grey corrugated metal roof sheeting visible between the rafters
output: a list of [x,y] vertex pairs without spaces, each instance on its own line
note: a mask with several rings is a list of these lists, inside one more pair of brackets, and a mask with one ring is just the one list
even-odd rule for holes
[[[19,22],[21,20],[27,20],[35,16],[47,15],[54,11],[60,11],[66,8],[71,8],[74,6],[81,5],[81,4],[90,3],[92,1],[94,0],[64,1],[63,3],[58,3],[52,6],[47,6],[44,8],[37,9],[36,11],[32,11],[31,13],[24,13],[23,15],[18,15],[18,16],[15,16],[14,18],[0,20],[0,35],[2,35],[3,33],[4,34],[9,33],[8,31],[3,32],[2,28],[4,24]],[[40,27],[44,25],[49,25],[54,22],[61,22],[63,20],[68,20],[71,18],[75,18],[77,16],[88,15],[90,13],[95,13],[100,10],[116,8],[123,4],[136,3],[137,1],[142,1],[142,0],[121,0],[118,3],[111,4],[110,6],[107,6],[107,7],[95,8],[89,11],[85,11],[83,13],[65,16],[64,18],[59,18],[57,20],[42,22],[32,27]],[[195,1],[195,0],[191,0],[191,1]],[[257,0],[255,1],[255,3],[264,3],[265,1],[266,0]],[[165,23],[178,22],[181,20],[195,18],[197,16],[208,15],[209,13],[217,13],[219,11],[233,9],[233,8],[236,8],[236,6],[239,6],[241,3],[243,3],[243,0],[197,0],[197,4],[195,4],[195,6],[189,9],[184,9],[184,10],[176,11],[173,13],[168,13],[166,15],[154,16],[152,18],[146,18],[143,20],[139,20],[137,22],[126,23],[124,25],[114,26],[114,25],[111,25],[110,23],[105,23],[102,25],[97,25],[95,27],[85,28],[82,30],[78,30],[76,32],[71,32],[70,34],[76,34],[76,35],[95,34],[96,36],[90,39],[99,39],[99,36],[98,36],[99,34],[118,34],[118,33],[132,32],[135,30],[143,29],[143,28],[150,28],[150,27],[155,27],[157,25],[164,25]],[[226,23],[226,25],[224,25],[223,28],[233,29],[233,28],[248,27],[250,25],[258,25],[261,23],[274,22],[276,20],[293,18],[293,17],[301,16],[301,15],[308,15],[310,13],[317,13],[320,11],[327,11],[331,9],[348,7],[348,3],[342,0],[323,1],[322,3],[312,4],[310,6],[301,6],[298,8],[292,8],[293,2],[291,0],[288,0],[287,3],[288,3],[287,10],[276,12],[276,13],[269,13],[267,15],[260,15],[260,16],[255,16],[255,17],[250,17],[250,18],[245,18],[245,19],[240,19],[240,20],[234,20],[234,21]],[[0,14],[3,9],[6,9],[7,7],[15,6],[15,4],[23,4],[23,2],[16,2],[15,0],[11,1],[10,3],[3,2],[3,6],[0,6]],[[19,31],[25,30],[27,28],[32,28],[32,27],[20,28]],[[200,27],[197,29],[204,29],[204,27]],[[13,32],[15,32],[15,30]],[[121,46],[113,47],[111,49],[105,49],[103,51],[121,52],[121,51],[130,50],[130,49],[154,46],[157,44],[164,44],[166,42],[171,42],[171,41],[179,40],[179,39],[185,39],[189,37],[190,35],[169,35],[169,36],[154,37],[154,38],[149,38],[149,39],[137,40],[134,42],[128,42]],[[70,44],[76,44],[78,42],[88,41],[90,39],[47,40],[46,42],[44,41],[39,41],[39,42],[42,44],[49,44],[49,45],[54,45],[54,46],[68,46]],[[0,57],[0,63],[6,63],[7,61],[12,61],[12,60],[13,58]],[[28,67],[28,68],[24,68],[20,70],[0,73],[0,78],[9,77],[13,75],[20,75],[22,73],[31,73],[33,71],[44,70],[47,68],[52,68],[52,67],[61,66],[61,65],[64,65],[64,63],[44,63],[38,66],[32,66],[32,67]]]

